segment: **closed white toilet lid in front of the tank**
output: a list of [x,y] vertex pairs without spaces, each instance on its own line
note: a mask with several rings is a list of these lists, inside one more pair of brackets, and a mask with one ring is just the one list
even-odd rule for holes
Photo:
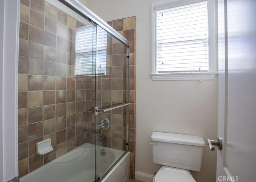
[[162,166],[156,173],[153,182],[196,182],[185,169]]

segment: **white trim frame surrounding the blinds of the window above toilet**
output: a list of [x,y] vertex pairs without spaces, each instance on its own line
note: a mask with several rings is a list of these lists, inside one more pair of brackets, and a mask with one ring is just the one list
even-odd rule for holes
[[[198,2],[208,1],[208,52],[209,70],[208,72],[175,72],[158,73],[157,72],[157,45],[156,45],[156,11]],[[151,4],[151,77],[152,80],[214,80],[215,74],[218,74],[217,64],[217,18],[216,18],[215,0],[162,0]]]

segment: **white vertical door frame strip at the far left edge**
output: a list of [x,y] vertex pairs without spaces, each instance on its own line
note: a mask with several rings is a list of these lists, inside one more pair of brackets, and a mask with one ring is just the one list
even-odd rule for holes
[[18,176],[20,0],[1,0],[0,17],[0,182],[6,182]]

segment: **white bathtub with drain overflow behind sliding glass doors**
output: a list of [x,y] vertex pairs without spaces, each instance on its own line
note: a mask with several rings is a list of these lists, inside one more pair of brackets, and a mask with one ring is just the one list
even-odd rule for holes
[[130,152],[84,143],[23,176],[20,182],[94,182],[95,175],[100,176],[99,182],[128,182]]

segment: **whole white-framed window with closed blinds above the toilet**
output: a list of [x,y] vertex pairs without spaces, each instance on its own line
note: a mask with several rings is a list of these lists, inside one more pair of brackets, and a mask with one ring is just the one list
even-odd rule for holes
[[183,0],[152,4],[153,80],[214,79],[213,3]]

